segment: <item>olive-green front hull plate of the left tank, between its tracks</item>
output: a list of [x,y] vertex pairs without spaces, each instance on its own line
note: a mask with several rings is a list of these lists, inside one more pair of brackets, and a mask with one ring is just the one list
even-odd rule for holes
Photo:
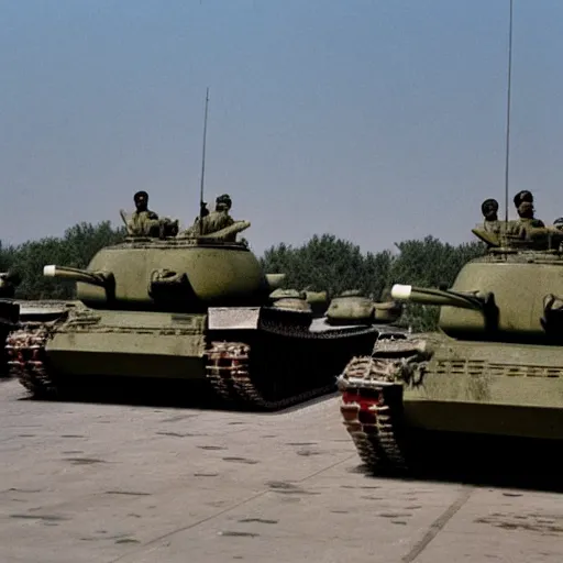
[[201,378],[206,320],[205,314],[91,311],[53,331],[46,357],[65,377]]

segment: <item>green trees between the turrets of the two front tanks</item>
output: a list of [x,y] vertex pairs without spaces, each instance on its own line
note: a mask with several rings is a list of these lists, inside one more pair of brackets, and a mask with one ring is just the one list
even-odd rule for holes
[[[389,251],[362,254],[360,246],[333,235],[313,236],[298,249],[284,243],[272,246],[263,257],[266,272],[287,274],[286,286],[297,289],[327,289],[335,296],[345,289],[361,289],[373,299],[386,299],[393,284],[451,286],[460,268],[483,255],[482,243],[452,246],[433,236],[396,244]],[[412,330],[431,330],[438,308],[408,303],[401,323]]]

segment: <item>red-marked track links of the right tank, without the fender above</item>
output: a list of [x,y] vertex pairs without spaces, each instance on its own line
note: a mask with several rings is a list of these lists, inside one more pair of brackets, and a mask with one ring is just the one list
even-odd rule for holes
[[408,465],[402,428],[402,386],[380,379],[378,375],[374,358],[354,357],[339,378],[340,411],[369,472],[405,473]]

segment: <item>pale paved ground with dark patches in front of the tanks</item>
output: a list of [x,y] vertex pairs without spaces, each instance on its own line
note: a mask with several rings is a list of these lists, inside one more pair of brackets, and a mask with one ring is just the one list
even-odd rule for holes
[[364,475],[330,398],[278,415],[22,400],[0,562],[556,562],[563,495]]

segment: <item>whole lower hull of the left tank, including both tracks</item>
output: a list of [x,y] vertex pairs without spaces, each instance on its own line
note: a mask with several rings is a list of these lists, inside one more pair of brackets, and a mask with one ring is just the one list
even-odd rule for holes
[[[311,323],[300,311],[210,308],[207,313],[79,308],[11,335],[12,371],[34,396],[96,380],[205,382],[233,405],[278,409],[336,389],[350,353],[366,354],[376,327]],[[290,352],[290,353],[289,353]],[[125,384],[128,385],[128,384]]]

